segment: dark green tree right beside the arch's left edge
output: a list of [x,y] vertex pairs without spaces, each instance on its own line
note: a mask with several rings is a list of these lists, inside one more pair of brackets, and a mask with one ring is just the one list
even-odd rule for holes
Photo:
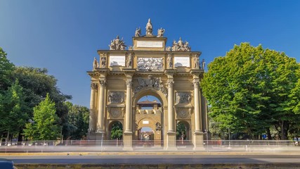
[[86,136],[89,129],[89,108],[85,106],[65,103],[68,107],[67,112],[67,138],[81,139]]

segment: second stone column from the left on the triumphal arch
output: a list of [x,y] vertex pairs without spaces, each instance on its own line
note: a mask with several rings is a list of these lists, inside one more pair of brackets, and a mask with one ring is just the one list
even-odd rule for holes
[[104,111],[105,111],[105,80],[99,80],[99,103],[98,103],[98,123],[97,123],[97,132],[104,132]]

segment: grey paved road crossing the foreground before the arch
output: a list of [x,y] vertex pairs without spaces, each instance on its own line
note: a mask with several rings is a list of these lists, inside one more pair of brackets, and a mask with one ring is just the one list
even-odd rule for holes
[[83,156],[0,156],[14,163],[90,164],[216,164],[216,163],[299,163],[299,155],[83,155]]

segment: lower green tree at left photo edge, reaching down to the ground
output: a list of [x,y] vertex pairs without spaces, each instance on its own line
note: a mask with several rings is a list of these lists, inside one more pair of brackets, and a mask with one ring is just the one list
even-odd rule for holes
[[18,80],[0,94],[0,130],[6,132],[7,138],[18,134],[27,121],[25,99]]

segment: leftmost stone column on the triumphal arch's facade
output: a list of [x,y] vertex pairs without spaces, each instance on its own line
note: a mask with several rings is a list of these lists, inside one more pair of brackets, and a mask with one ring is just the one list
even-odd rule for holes
[[91,102],[90,102],[90,113],[89,113],[89,131],[94,132],[96,130],[96,123],[95,123],[95,113],[96,113],[96,91],[98,85],[96,83],[91,83]]

